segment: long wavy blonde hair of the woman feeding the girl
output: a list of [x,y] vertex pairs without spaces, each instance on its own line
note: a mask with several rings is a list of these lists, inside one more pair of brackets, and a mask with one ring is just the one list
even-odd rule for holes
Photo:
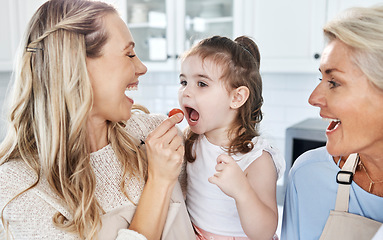
[[[102,55],[108,40],[103,24],[107,14],[117,14],[116,9],[88,0],[51,0],[36,11],[21,44],[9,129],[0,145],[0,165],[21,159],[36,173],[37,181],[23,192],[35,187],[41,176],[47,178],[73,216],[66,219],[57,213],[53,222],[82,239],[96,238],[104,212],[94,195],[90,165],[86,126],[93,96],[86,58]],[[108,140],[123,167],[122,179],[145,179],[145,155],[125,126],[108,123]],[[129,198],[123,180],[121,189]]]

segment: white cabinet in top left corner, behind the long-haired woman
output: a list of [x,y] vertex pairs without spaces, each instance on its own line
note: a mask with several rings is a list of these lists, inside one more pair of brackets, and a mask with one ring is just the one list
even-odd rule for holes
[[0,8],[0,71],[13,70],[17,49],[28,21],[44,0],[2,0]]

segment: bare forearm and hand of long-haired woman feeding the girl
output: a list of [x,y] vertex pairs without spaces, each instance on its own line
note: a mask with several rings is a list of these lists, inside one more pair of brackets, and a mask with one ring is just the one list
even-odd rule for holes
[[148,179],[129,229],[148,240],[161,238],[170,197],[183,162],[183,140],[175,124],[182,114],[166,119],[145,141],[148,156]]

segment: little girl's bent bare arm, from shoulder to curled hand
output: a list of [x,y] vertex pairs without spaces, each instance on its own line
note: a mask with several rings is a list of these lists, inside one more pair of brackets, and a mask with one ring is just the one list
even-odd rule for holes
[[252,240],[272,239],[278,225],[277,172],[267,152],[243,172],[227,155],[217,159],[217,173],[209,179],[235,199],[242,228]]

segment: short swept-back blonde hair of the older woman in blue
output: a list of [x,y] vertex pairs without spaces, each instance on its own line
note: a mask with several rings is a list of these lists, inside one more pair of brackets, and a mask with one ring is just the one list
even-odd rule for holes
[[352,48],[352,60],[383,90],[383,5],[349,8],[328,22],[327,40],[339,39]]

